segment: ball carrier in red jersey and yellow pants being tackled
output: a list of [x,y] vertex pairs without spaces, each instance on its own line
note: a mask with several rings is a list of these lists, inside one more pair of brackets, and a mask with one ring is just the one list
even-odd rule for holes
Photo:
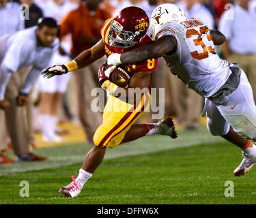
[[[137,46],[152,42],[146,35],[149,26],[147,14],[139,7],[126,7],[115,18],[109,18],[101,29],[102,40],[92,48],[82,52],[76,59],[66,65],[48,67],[42,75],[51,78],[55,75],[66,74],[75,69],[86,67],[104,55],[122,53]],[[157,59],[141,61],[136,65],[122,66],[130,74],[128,88],[135,89],[129,94],[129,89],[118,87],[109,80],[109,74],[115,66],[104,71],[104,65],[99,69],[99,81],[103,89],[109,92],[103,113],[103,123],[94,134],[95,146],[87,153],[79,176],[72,176],[72,183],[59,190],[64,196],[76,197],[83,185],[100,165],[106,147],[114,148],[122,142],[136,140],[142,136],[162,134],[176,138],[175,127],[171,119],[159,123],[134,124],[150,106],[150,82],[152,72],[157,67]],[[85,84],[86,85],[86,84]],[[141,89],[149,88],[141,93]],[[136,91],[137,90],[137,91]],[[119,93],[126,92],[126,99],[119,99]],[[129,104],[133,102],[133,104]],[[134,103],[135,102],[135,103]],[[139,104],[137,104],[139,103]]]

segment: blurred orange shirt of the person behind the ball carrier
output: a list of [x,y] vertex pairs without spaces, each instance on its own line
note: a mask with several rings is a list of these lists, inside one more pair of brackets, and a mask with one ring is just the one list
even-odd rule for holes
[[101,38],[100,29],[104,21],[110,17],[111,14],[101,7],[91,15],[84,4],[69,12],[61,22],[61,36],[72,34],[71,53],[79,55],[94,46]]

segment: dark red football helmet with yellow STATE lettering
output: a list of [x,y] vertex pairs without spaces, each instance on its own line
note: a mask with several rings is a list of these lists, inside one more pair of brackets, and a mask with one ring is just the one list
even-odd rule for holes
[[142,40],[149,27],[147,14],[139,7],[126,7],[112,20],[109,44],[129,48]]

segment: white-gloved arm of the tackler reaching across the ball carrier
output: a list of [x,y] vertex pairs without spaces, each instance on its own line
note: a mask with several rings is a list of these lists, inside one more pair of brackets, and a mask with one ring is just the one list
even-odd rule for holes
[[133,64],[147,59],[157,59],[165,54],[173,54],[177,50],[177,40],[172,35],[160,37],[156,42],[134,48],[128,52],[110,55],[109,65]]

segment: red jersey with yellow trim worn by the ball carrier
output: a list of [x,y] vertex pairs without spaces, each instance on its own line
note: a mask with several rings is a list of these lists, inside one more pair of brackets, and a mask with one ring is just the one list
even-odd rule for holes
[[[145,44],[149,44],[152,42],[150,37],[148,35],[145,35],[141,42],[136,44],[135,46],[132,46],[130,48],[114,48],[113,46],[109,45],[109,39],[108,34],[111,28],[111,21],[114,18],[109,18],[104,22],[104,25],[102,26],[102,29],[100,31],[102,41],[104,42],[104,49],[105,49],[105,55],[106,57],[109,57],[109,55],[112,55],[113,53],[121,54],[123,52],[126,52],[128,50],[132,50],[133,48],[137,48],[138,46],[142,46]],[[147,61],[141,61],[137,63],[136,65],[122,65],[122,67],[125,67],[125,69],[130,72],[130,74],[134,74],[135,72],[152,72],[156,69],[158,64],[158,59],[148,59]],[[132,75],[130,75],[132,76]]]

